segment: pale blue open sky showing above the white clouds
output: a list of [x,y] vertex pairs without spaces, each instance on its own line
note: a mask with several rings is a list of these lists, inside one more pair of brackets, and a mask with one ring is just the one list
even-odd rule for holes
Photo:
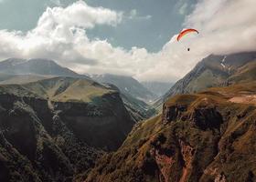
[[[2,0],[0,29],[27,31],[48,6],[66,7],[75,0]],[[86,0],[88,5],[103,6],[123,12],[118,26],[99,25],[89,30],[90,38],[108,39],[114,46],[131,49],[145,47],[159,51],[182,28],[186,15],[193,10],[196,0]]]

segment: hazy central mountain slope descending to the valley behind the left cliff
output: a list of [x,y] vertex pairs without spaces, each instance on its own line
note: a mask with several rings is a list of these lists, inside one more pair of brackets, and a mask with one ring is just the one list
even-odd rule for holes
[[91,79],[120,92],[124,106],[135,121],[148,119],[155,115],[155,108],[149,104],[156,96],[133,77],[105,74],[91,75]]

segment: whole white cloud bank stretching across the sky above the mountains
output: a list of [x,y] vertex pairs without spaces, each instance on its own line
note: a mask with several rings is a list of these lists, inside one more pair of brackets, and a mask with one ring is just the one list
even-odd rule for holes
[[[80,73],[173,81],[209,54],[256,50],[255,6],[255,0],[200,0],[184,23],[185,28],[197,28],[200,34],[181,42],[176,42],[174,35],[161,51],[149,53],[145,48],[125,50],[107,40],[90,39],[87,29],[118,25],[123,14],[79,1],[67,8],[48,8],[27,34],[1,30],[0,58],[46,57]],[[136,11],[130,15],[138,16]]]

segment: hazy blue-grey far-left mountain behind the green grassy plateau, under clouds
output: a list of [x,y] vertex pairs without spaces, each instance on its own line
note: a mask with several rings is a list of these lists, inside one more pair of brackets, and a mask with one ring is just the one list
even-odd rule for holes
[[71,76],[87,77],[59,66],[48,59],[17,59],[9,58],[0,62],[0,73],[8,75],[41,75],[41,76]]

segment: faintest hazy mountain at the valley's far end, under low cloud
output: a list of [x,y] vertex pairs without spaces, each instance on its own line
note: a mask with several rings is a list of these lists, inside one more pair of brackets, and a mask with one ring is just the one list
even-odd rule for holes
[[155,96],[164,96],[165,93],[174,85],[166,82],[141,82],[141,84]]

